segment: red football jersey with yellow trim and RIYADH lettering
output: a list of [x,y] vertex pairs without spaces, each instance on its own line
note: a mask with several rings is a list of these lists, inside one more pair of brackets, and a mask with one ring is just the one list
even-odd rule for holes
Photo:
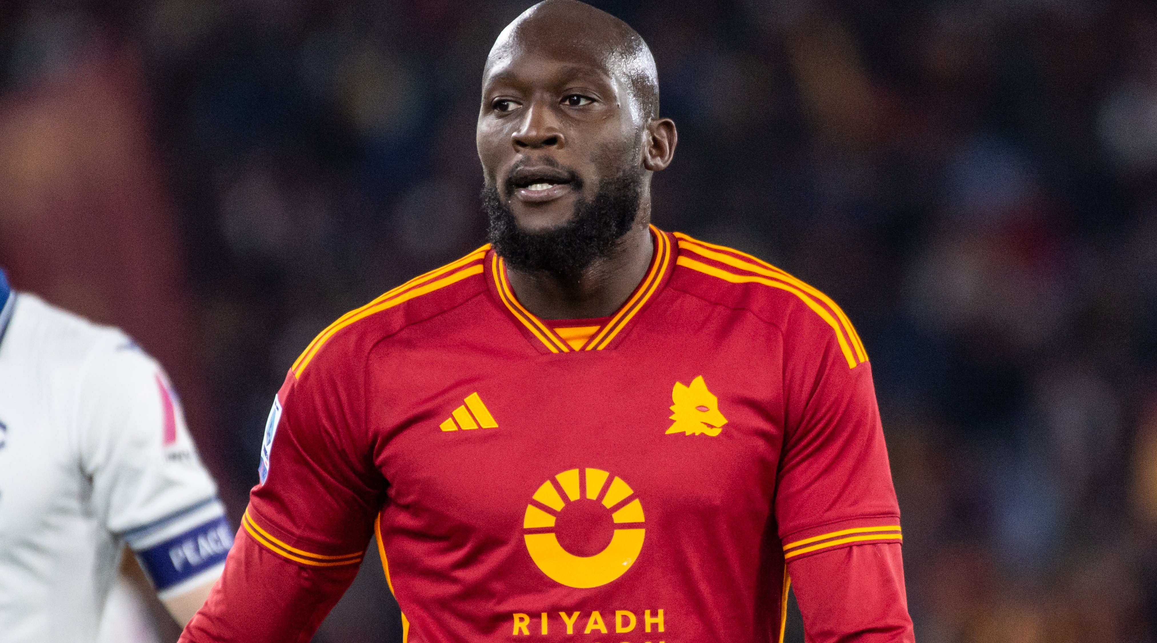
[[268,600],[308,640],[375,532],[410,642],[775,641],[789,570],[811,557],[809,634],[858,619],[909,641],[852,324],[768,264],[651,230],[646,278],[585,330],[530,313],[484,246],[318,335],[183,641],[234,640],[230,601],[256,600],[271,566]]

